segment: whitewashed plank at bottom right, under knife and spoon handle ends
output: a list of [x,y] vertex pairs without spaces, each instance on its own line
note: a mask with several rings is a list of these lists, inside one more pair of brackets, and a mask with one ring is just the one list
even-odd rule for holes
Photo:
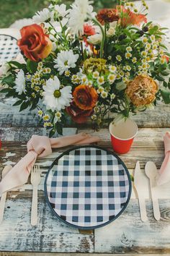
[[159,205],[161,221],[153,218],[147,201],[148,222],[143,223],[137,200],[130,200],[120,218],[95,231],[95,252],[170,254],[170,200],[159,200]]

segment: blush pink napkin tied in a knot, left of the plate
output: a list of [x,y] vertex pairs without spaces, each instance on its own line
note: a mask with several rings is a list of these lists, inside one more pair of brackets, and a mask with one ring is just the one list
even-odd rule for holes
[[24,156],[9,171],[0,183],[0,195],[3,192],[22,186],[27,183],[32,166],[34,166],[37,156],[44,158],[52,153],[52,148],[62,148],[68,145],[85,145],[93,142],[99,142],[99,137],[79,133],[66,137],[58,137],[49,139],[45,136],[33,135],[31,140],[27,142],[27,155]]

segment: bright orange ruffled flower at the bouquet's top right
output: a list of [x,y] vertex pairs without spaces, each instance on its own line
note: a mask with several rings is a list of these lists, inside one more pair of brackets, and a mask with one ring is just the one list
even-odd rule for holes
[[136,14],[131,12],[130,9],[125,9],[125,7],[117,6],[117,14],[120,17],[120,24],[122,27],[127,27],[128,25],[140,26],[142,22],[147,22],[145,14]]

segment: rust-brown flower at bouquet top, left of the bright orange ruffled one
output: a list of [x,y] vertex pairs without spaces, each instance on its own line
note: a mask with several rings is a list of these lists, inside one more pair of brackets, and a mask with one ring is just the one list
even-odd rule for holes
[[97,20],[104,25],[108,22],[119,20],[116,9],[102,9],[97,14]]

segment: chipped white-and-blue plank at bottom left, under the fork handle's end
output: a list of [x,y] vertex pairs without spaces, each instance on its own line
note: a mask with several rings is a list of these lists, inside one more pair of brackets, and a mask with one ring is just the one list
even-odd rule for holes
[[50,212],[45,199],[38,204],[38,224],[30,225],[31,200],[9,199],[0,226],[0,251],[94,252],[94,235],[62,223]]

